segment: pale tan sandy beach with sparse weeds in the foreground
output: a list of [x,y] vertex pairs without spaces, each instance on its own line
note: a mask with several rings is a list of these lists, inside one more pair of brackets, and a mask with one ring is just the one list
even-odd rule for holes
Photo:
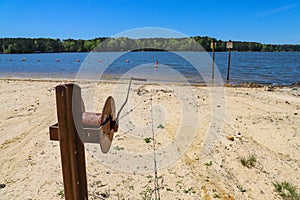
[[[63,198],[59,142],[50,141],[49,126],[57,122],[55,86],[66,82],[0,80],[1,200]],[[86,109],[91,111],[101,112],[106,97],[116,94],[113,81],[86,82],[80,86],[87,101]],[[181,89],[185,91],[184,87],[187,86],[132,86],[129,115],[133,125],[142,127],[158,120],[155,122],[158,150],[172,143],[181,130],[178,127],[184,108],[176,94]],[[197,110],[195,136],[178,159],[158,169],[161,199],[281,199],[273,183],[288,181],[300,188],[299,87],[192,86],[189,89],[193,95],[183,94],[183,98],[192,111]],[[212,100],[211,91],[215,89],[222,91],[222,104]],[[89,97],[88,91],[95,95]],[[95,99],[96,106],[89,105],[89,99]],[[118,101],[123,102],[124,98]],[[151,119],[150,103],[163,114],[155,114]],[[221,127],[213,133],[217,137],[204,155],[203,146],[214,117],[220,117],[213,116],[218,109],[224,114]],[[188,125],[194,119],[183,120]],[[130,121],[126,117],[121,121],[112,152],[152,152],[152,143],[144,140],[150,136],[134,138]],[[119,168],[122,163],[115,162],[114,167],[101,164],[92,152],[99,145],[86,146],[89,199],[151,198],[152,170],[139,168],[130,172]],[[241,159],[249,156],[254,156],[256,162],[253,166],[243,166]]]

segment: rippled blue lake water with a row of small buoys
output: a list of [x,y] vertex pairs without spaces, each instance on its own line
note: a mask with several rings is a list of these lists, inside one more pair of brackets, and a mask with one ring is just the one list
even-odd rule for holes
[[[215,53],[215,79],[226,80],[227,58],[227,52]],[[156,60],[159,62],[157,68]],[[203,83],[211,81],[211,74],[211,53],[203,52],[0,54],[0,77],[106,79],[139,76]],[[285,85],[299,81],[300,52],[231,53],[230,83]]]

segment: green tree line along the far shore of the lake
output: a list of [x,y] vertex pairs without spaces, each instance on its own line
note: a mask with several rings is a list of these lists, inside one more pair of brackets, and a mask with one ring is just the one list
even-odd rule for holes
[[[89,52],[89,51],[211,51],[210,43],[216,42],[215,51],[226,51],[226,42],[211,37],[190,38],[94,38],[52,39],[52,38],[0,38],[0,53],[47,53],[47,52]],[[200,46],[200,45],[201,46]],[[261,44],[258,42],[233,41],[236,51],[300,51],[300,45]]]

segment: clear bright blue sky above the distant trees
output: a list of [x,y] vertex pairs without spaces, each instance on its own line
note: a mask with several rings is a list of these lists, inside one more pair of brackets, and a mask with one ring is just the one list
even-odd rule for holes
[[0,37],[90,39],[142,27],[300,44],[300,0],[0,0]]

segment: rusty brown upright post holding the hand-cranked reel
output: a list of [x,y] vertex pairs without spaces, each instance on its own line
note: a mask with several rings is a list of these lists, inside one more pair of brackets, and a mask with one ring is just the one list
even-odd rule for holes
[[[65,199],[87,200],[84,145],[77,132],[77,129],[83,127],[80,88],[74,84],[57,86],[56,105],[58,118],[56,131],[59,133]],[[53,126],[50,127],[50,138],[51,135],[55,135]]]

